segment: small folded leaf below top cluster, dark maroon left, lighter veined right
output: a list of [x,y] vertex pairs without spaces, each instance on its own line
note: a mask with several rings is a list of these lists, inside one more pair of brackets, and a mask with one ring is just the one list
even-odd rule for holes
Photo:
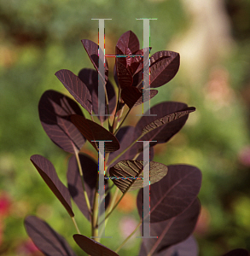
[[[150,99],[156,96],[158,90],[150,90]],[[129,108],[136,107],[143,102],[149,101],[148,90],[144,91],[144,95],[142,96],[142,90],[137,89],[137,87],[127,86],[123,90],[121,90],[121,98],[128,105]]]

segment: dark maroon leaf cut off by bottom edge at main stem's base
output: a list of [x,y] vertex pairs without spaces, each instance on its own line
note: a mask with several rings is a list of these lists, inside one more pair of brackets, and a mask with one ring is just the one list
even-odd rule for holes
[[102,243],[90,239],[87,236],[76,234],[73,235],[73,239],[78,244],[78,247],[80,247],[85,253],[88,253],[91,256],[119,256],[108,247],[103,246]]

